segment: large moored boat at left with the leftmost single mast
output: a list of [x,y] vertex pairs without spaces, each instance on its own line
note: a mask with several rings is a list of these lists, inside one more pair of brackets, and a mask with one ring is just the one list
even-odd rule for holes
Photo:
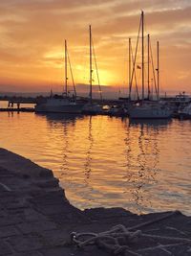
[[[67,41],[65,40],[65,89],[62,95],[53,95],[45,102],[35,105],[35,112],[48,112],[48,113],[74,113],[79,114],[82,112],[83,104],[76,101],[76,91],[74,87],[74,95],[71,97],[68,91],[68,55]],[[71,63],[70,63],[71,67]],[[72,73],[72,70],[71,70]],[[73,78],[73,75],[72,75]],[[74,78],[73,78],[74,81]]]

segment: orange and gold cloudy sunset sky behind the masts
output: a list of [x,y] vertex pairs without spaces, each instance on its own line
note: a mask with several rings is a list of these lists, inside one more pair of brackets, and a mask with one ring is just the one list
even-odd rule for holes
[[76,89],[88,84],[91,24],[93,83],[97,65],[100,84],[126,93],[128,38],[135,51],[141,10],[155,63],[159,40],[161,91],[191,93],[190,0],[1,0],[0,91],[61,91],[65,39]]

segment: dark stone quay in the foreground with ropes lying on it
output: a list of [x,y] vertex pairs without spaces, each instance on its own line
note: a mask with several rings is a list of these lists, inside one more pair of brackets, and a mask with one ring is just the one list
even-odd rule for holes
[[191,217],[179,211],[140,216],[122,208],[81,211],[51,170],[4,149],[0,193],[1,256],[191,255]]

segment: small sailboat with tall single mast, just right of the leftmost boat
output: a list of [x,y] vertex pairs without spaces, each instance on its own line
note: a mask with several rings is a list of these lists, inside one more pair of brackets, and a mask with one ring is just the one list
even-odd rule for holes
[[[89,39],[90,39],[90,93],[89,102],[83,106],[82,112],[84,114],[100,114],[103,112],[102,105],[97,105],[93,103],[93,40],[92,40],[92,27],[89,26]],[[100,85],[99,85],[100,86]],[[102,95],[101,95],[102,99]]]

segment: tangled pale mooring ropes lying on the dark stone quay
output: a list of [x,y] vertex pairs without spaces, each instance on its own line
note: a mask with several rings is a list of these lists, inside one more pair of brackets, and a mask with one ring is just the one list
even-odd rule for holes
[[[173,217],[174,215],[179,215],[180,212],[175,211],[173,213],[168,213],[156,220],[145,221],[141,224],[126,228],[124,225],[119,224],[117,226],[112,227],[109,231],[101,232],[101,233],[71,233],[71,243],[76,245],[79,248],[82,248],[86,245],[96,245],[99,248],[103,248],[114,255],[135,255],[140,256],[140,252],[147,251],[153,248],[161,248],[166,251],[166,247],[170,247],[172,245],[179,244],[191,244],[190,239],[179,238],[179,237],[165,237],[158,235],[149,235],[144,234],[138,229],[139,227],[147,226],[153,224],[158,221],[163,221],[167,218]],[[135,230],[135,231],[134,231]],[[130,249],[129,244],[138,242],[139,238],[152,238],[154,240],[165,240],[165,243],[170,244],[160,244],[157,246],[149,246],[147,248],[139,249],[137,252],[132,251]],[[174,244],[172,244],[174,243]],[[139,253],[138,253],[139,252]]]

